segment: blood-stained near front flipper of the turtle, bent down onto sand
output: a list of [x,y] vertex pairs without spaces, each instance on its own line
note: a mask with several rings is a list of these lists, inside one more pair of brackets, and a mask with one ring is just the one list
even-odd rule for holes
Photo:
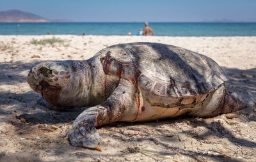
[[100,136],[96,127],[116,122],[132,121],[138,114],[138,90],[131,82],[120,79],[106,101],[82,112],[68,131],[70,143],[76,147],[99,148]]

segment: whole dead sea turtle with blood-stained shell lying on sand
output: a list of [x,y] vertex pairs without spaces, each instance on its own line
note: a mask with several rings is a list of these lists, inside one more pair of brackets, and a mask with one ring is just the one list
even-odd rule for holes
[[72,145],[96,148],[96,127],[179,115],[211,117],[240,110],[224,71],[209,57],[160,43],[127,43],[86,61],[51,61],[28,74],[54,109],[85,108],[68,131]]

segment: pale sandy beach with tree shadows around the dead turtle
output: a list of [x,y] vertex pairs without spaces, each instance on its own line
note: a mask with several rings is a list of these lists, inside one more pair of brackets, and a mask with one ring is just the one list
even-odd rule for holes
[[[0,36],[0,161],[255,161],[255,36],[54,37],[63,42],[35,45],[33,40],[52,36]],[[175,45],[211,57],[226,71],[228,89],[246,108],[234,118],[118,122],[99,129],[102,152],[72,147],[66,131],[82,110],[54,112],[37,103],[40,94],[26,83],[29,70],[42,61],[89,59],[110,45],[138,41]]]

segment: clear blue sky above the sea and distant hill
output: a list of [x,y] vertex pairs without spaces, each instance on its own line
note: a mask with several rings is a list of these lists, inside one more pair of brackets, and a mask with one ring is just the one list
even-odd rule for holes
[[255,0],[0,0],[11,9],[79,22],[256,22]]

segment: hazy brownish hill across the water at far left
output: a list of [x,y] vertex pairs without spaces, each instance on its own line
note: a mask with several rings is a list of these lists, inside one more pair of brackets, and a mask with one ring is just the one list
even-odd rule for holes
[[0,11],[0,22],[50,22],[46,18],[20,10]]

